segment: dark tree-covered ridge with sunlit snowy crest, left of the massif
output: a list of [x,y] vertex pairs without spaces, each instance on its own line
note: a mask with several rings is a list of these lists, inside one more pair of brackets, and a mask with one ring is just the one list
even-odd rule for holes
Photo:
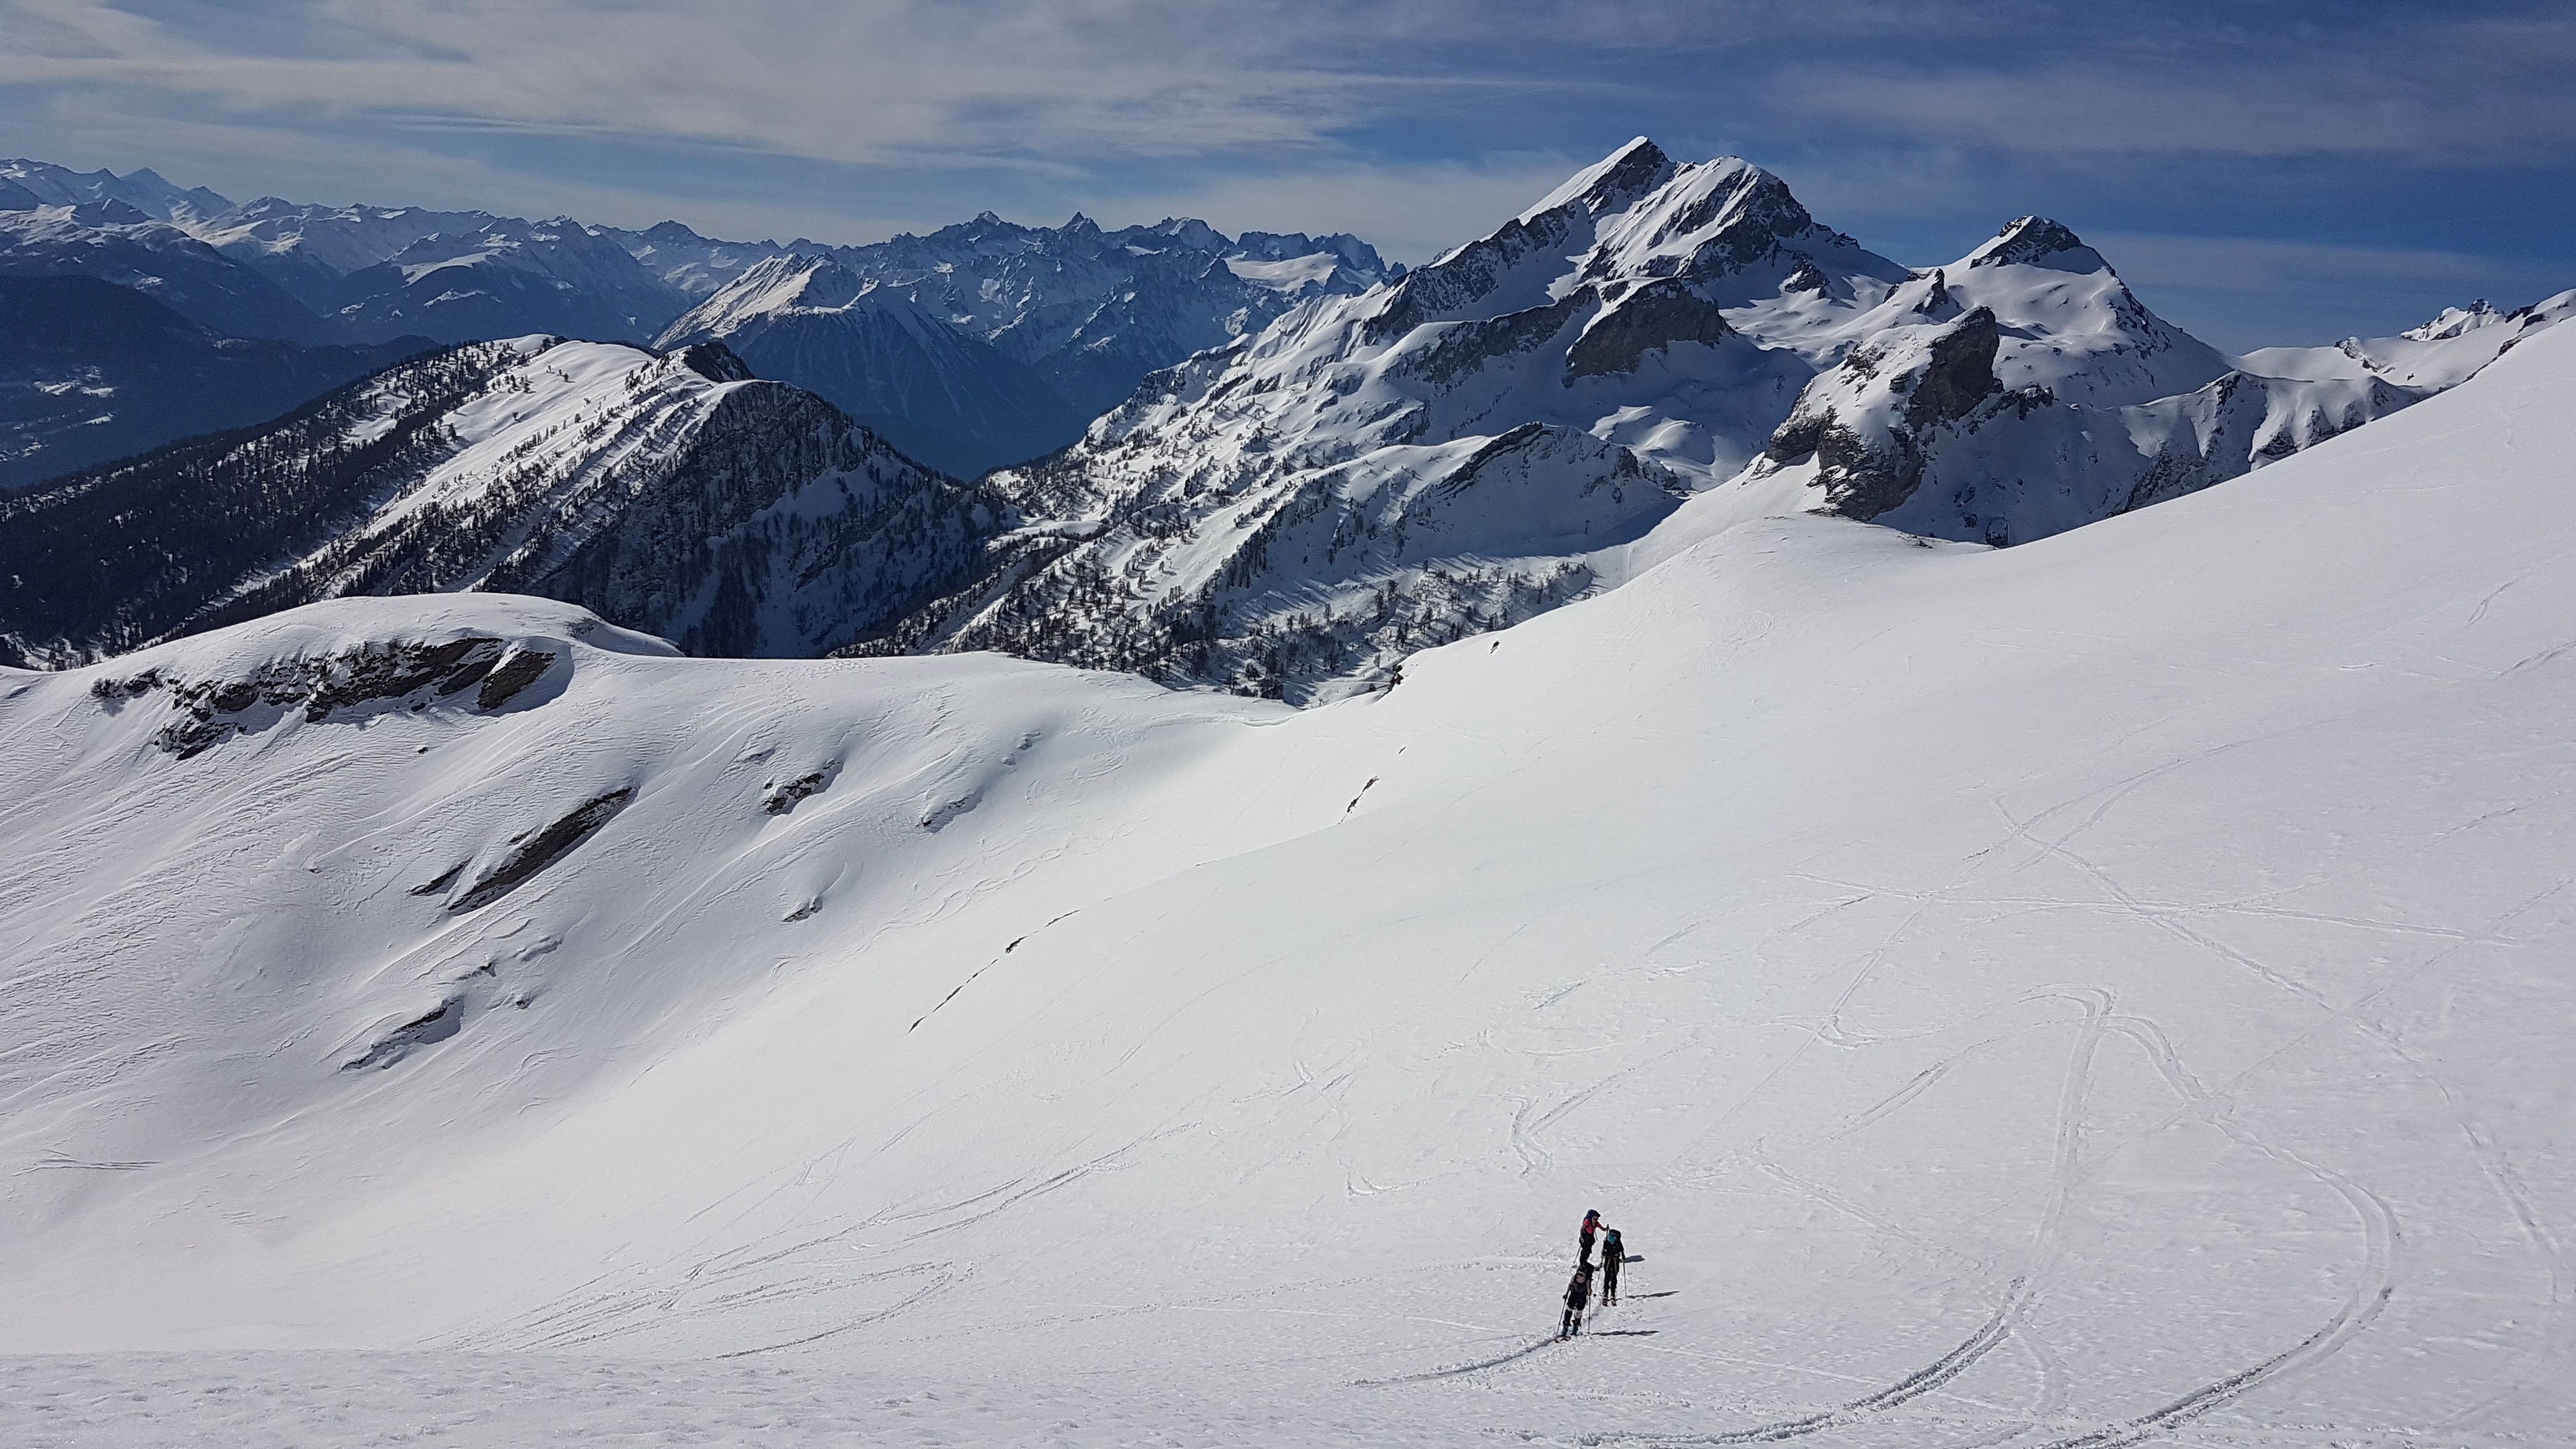
[[[979,562],[992,516],[721,345],[474,343],[276,428],[8,505],[0,627],[75,660],[353,593],[587,603],[693,652],[817,655]],[[106,539],[106,544],[100,541]],[[100,570],[80,559],[116,559]]]

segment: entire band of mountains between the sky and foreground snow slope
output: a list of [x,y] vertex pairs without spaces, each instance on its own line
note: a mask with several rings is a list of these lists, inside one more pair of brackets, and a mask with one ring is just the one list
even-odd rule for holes
[[[337,327],[556,307],[626,338],[451,343],[0,505],[0,642],[52,665],[317,598],[492,588],[703,655],[999,650],[1327,701],[1749,518],[2002,547],[2195,492],[2576,315],[2571,291],[2228,358],[2050,219],[1909,268],[1757,165],[1643,139],[1409,273],[1350,237],[1198,222],[987,214],[773,248],[209,211],[149,173],[13,165],[31,232],[149,237],[278,294],[381,281]],[[144,201],[165,219],[106,219]],[[389,361],[260,345],[322,387]],[[21,376],[59,436],[106,371],[44,366]],[[1128,374],[1084,423],[1077,400]],[[108,407],[118,384],[98,387]],[[976,477],[1012,459],[1038,462]]]

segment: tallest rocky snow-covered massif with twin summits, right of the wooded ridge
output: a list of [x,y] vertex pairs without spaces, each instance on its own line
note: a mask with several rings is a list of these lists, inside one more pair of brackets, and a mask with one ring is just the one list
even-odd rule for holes
[[1762,168],[1638,139],[997,472],[984,487],[1023,523],[992,575],[868,647],[1332,699],[1618,583],[1685,508],[1685,531],[1824,511],[2040,539],[2380,418],[2571,312],[2563,294],[2275,351],[2269,376],[2156,317],[2056,222],[1906,268]]

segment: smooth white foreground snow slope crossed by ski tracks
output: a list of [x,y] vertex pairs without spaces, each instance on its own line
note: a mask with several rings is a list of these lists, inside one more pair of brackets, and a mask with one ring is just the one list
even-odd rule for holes
[[[2571,456],[2553,330],[2007,552],[1708,495],[1311,712],[492,596],[0,676],[0,1441],[2561,1444]],[[569,665],[93,694],[461,634]]]

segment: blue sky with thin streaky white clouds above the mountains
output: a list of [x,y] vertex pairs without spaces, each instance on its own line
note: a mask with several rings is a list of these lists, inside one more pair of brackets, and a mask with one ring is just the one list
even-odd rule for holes
[[2576,286],[2576,5],[0,0],[0,152],[876,240],[1466,240],[1631,134],[1906,263],[2020,211],[2213,343]]

